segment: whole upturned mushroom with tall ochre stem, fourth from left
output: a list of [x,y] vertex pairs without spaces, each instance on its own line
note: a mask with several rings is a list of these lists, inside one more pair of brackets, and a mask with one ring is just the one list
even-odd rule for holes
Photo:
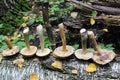
[[74,52],[74,48],[70,45],[66,45],[66,38],[64,33],[64,25],[63,23],[59,24],[60,36],[62,39],[62,46],[56,48],[53,51],[53,56],[56,58],[67,58],[71,56]]

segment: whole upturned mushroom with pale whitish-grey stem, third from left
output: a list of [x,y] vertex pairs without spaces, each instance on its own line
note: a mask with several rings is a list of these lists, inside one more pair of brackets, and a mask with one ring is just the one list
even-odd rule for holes
[[37,33],[40,37],[40,47],[41,49],[37,50],[36,55],[39,57],[44,57],[50,54],[51,50],[49,48],[44,48],[44,37],[43,37],[43,26],[39,25],[37,27]]

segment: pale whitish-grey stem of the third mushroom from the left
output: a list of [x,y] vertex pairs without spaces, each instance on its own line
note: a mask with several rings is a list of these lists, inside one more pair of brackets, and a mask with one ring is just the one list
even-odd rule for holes
[[37,33],[38,33],[39,38],[40,38],[41,50],[44,51],[44,37],[43,37],[43,26],[42,25],[37,26]]

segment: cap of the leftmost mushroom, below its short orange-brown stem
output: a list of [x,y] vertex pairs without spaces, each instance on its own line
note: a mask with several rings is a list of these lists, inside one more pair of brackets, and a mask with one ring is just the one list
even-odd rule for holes
[[19,47],[14,46],[12,49],[7,49],[2,52],[2,55],[5,57],[13,56],[19,52]]

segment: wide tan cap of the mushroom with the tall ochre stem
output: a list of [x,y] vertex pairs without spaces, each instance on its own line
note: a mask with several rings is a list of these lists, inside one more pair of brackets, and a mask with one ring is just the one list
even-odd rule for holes
[[69,46],[69,45],[66,45],[66,49],[67,49],[66,52],[62,51],[62,49],[63,49],[63,46],[56,48],[53,51],[53,56],[55,58],[63,58],[64,59],[64,58],[71,56],[75,50],[72,46]]

